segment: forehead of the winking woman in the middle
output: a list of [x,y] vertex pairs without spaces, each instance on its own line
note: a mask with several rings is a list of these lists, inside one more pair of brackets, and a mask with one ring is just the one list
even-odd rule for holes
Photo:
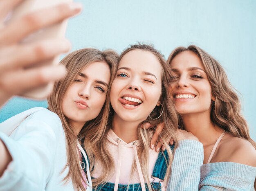
[[153,53],[146,50],[131,50],[126,53],[119,62],[120,67],[128,67],[137,72],[150,72],[161,76],[162,66],[159,59]]

